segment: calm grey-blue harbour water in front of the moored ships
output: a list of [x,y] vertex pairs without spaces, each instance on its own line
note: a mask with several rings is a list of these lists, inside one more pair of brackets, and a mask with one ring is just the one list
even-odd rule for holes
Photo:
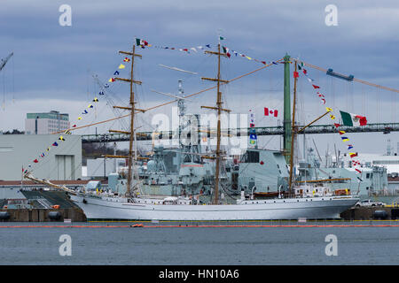
[[399,227],[0,228],[0,241],[0,264],[399,264]]

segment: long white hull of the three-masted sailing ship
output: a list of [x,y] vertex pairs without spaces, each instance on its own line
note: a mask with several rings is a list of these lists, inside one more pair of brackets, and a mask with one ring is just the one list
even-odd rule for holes
[[355,196],[325,196],[243,201],[239,204],[189,205],[117,202],[106,197],[71,195],[88,219],[123,220],[271,220],[340,218],[359,200]]

